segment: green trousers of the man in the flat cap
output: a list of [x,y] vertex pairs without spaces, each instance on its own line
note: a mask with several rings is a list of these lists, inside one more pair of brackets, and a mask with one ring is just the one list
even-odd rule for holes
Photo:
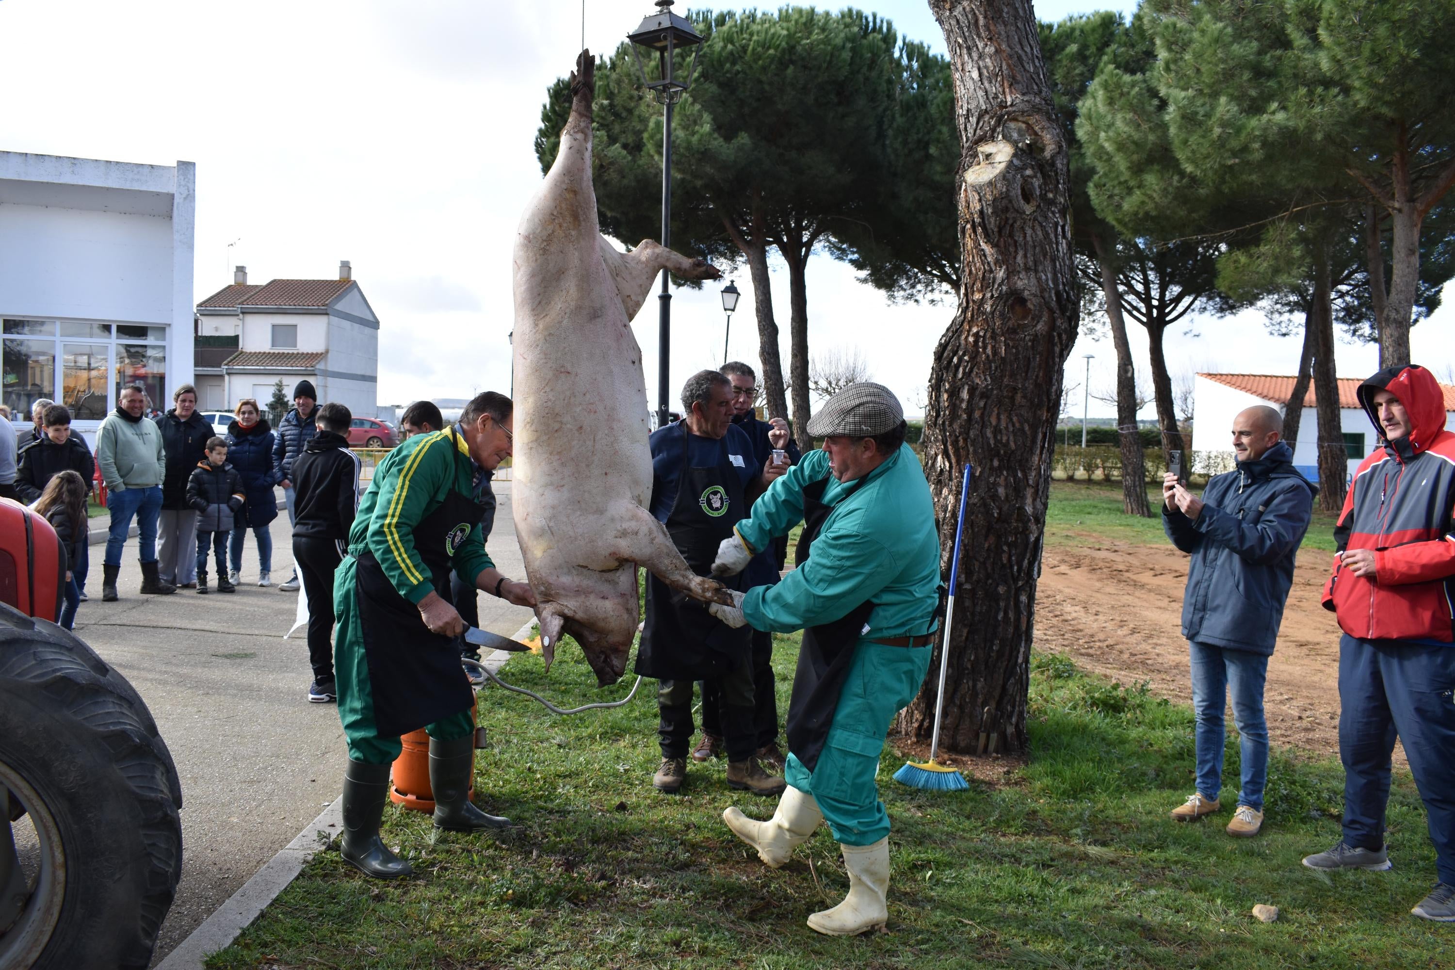
[[895,714],[920,692],[931,652],[860,640],[818,765],[810,772],[789,752],[784,779],[813,795],[842,845],[873,845],[889,835],[889,813],[874,781],[879,755]]

